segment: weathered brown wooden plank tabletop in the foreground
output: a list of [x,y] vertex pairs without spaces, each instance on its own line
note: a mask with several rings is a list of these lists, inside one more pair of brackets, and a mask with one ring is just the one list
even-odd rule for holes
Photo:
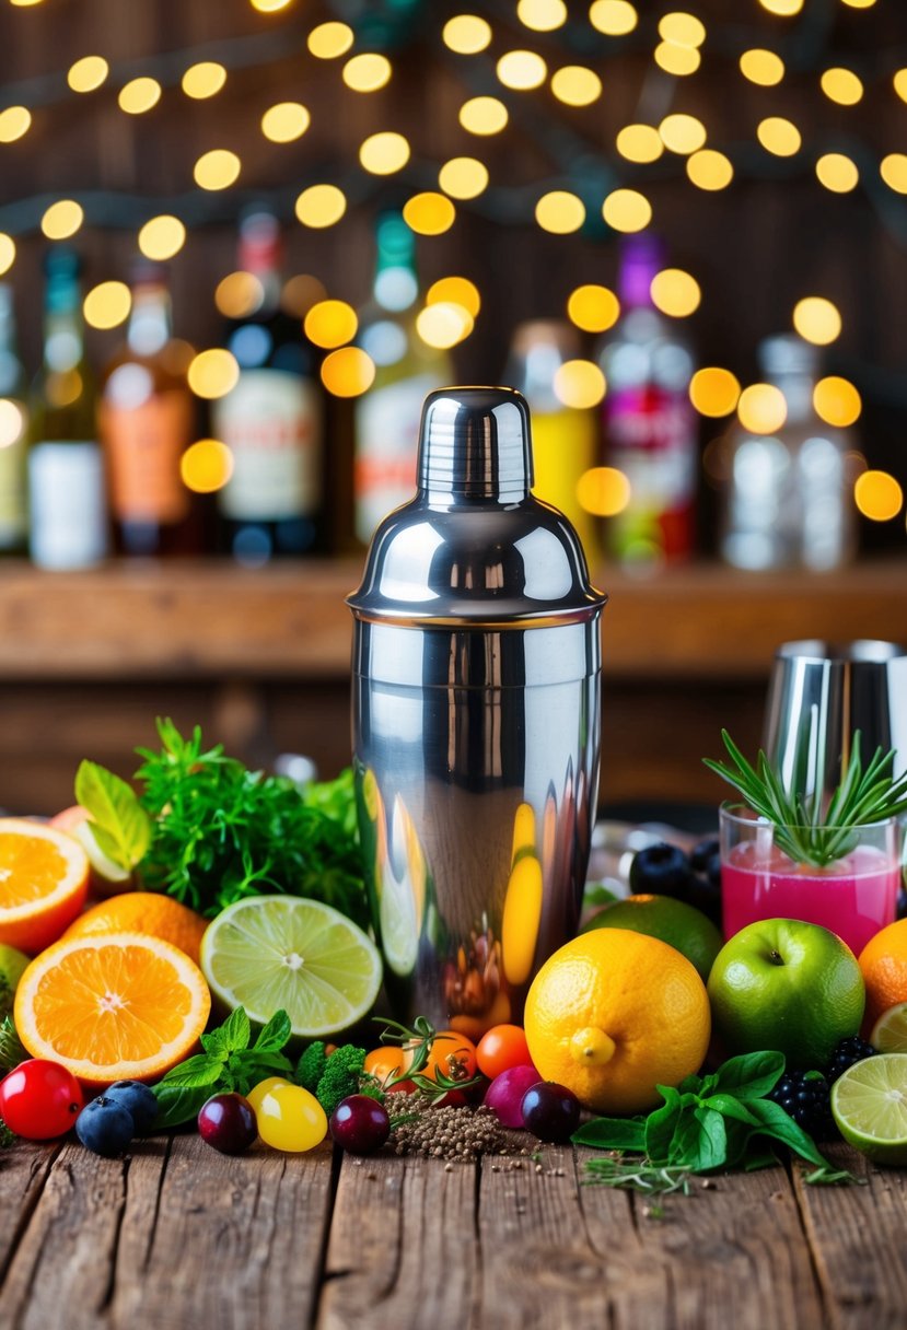
[[813,1330],[907,1325],[907,1173],[830,1157],[662,1200],[580,1186],[593,1152],[480,1166],[197,1136],[124,1160],[0,1152],[0,1326],[16,1330]]

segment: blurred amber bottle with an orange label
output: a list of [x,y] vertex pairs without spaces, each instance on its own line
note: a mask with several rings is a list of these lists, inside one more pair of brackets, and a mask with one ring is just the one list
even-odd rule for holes
[[122,555],[198,553],[201,529],[180,459],[195,403],[174,366],[166,271],[137,265],[126,344],[105,371],[98,407],[114,547]]

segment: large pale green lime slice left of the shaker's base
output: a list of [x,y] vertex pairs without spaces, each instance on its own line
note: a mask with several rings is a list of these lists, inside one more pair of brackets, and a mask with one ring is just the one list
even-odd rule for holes
[[322,1039],[374,1005],[382,962],[346,915],[299,896],[249,896],[217,916],[202,940],[205,978],[227,1007],[265,1024],[282,1007],[294,1035]]

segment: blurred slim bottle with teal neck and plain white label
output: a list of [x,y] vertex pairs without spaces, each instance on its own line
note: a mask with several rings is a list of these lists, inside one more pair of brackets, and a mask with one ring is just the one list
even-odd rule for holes
[[104,459],[85,362],[78,255],[44,262],[44,363],[31,396],[29,551],[40,568],[88,568],[108,552]]

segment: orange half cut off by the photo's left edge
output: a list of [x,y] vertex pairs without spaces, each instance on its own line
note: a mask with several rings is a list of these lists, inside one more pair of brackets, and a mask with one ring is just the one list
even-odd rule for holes
[[25,818],[0,818],[0,942],[35,955],[82,908],[88,855],[70,835]]

